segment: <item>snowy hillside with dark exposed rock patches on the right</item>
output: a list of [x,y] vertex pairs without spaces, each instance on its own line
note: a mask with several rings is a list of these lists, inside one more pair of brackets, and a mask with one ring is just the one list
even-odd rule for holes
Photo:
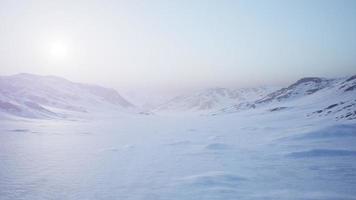
[[356,75],[337,79],[302,78],[261,99],[226,107],[219,113],[258,108],[270,112],[282,110],[305,112],[307,117],[356,119]]

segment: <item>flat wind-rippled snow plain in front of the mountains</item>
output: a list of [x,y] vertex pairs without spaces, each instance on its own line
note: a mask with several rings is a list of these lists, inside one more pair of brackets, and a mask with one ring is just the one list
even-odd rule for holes
[[0,121],[0,199],[356,199],[356,124],[298,112]]

